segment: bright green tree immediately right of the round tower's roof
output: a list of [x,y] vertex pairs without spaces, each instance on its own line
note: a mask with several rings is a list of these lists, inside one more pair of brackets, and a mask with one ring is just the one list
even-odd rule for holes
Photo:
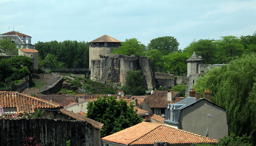
[[123,54],[123,55],[139,55],[143,56],[145,50],[145,45],[139,42],[136,38],[126,39],[121,42],[121,46],[114,48],[113,54]]

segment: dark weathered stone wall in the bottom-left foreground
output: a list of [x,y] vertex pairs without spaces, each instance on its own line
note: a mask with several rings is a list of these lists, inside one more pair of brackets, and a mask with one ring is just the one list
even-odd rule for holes
[[41,146],[65,146],[68,140],[72,146],[95,145],[95,129],[87,122],[54,120],[48,118],[0,119],[1,145],[20,146],[22,140],[37,136]]

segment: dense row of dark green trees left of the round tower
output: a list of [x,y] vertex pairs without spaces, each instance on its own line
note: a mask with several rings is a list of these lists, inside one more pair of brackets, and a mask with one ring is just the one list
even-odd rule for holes
[[[44,67],[89,68],[89,43],[65,40],[35,43]],[[46,56],[51,54],[48,58]],[[56,57],[56,58],[55,58]],[[46,60],[45,60],[46,59]],[[54,62],[57,63],[54,63]]]

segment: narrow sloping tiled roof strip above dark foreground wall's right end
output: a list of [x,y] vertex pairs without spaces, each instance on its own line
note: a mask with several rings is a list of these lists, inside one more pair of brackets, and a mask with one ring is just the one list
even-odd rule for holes
[[88,117],[82,116],[81,114],[77,114],[77,113],[74,113],[72,111],[68,111],[66,109],[60,109],[60,112],[62,114],[70,116],[70,117],[72,117],[72,118],[74,118],[76,120],[87,121],[87,122],[91,123],[94,128],[97,128],[97,129],[100,129],[100,130],[101,130],[102,126],[103,126],[103,124],[100,123],[100,122],[97,122],[97,121],[92,120],[92,119],[90,119]]

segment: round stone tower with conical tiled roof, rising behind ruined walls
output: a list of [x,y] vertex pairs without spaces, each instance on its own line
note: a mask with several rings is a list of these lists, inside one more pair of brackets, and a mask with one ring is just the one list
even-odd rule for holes
[[89,42],[89,68],[91,60],[100,60],[99,55],[112,54],[113,48],[117,48],[121,41],[108,35],[103,35]]

